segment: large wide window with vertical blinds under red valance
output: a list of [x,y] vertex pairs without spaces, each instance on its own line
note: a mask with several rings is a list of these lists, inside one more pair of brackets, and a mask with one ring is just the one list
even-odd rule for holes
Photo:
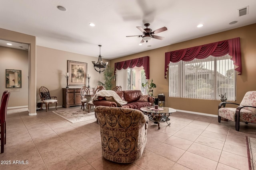
[[169,96],[218,100],[225,94],[235,98],[235,71],[229,55],[179,61],[169,65]]

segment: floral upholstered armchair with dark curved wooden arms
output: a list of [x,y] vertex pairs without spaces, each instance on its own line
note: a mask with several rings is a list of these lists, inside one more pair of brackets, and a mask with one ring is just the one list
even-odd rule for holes
[[[226,104],[234,104],[238,107],[225,107]],[[239,131],[240,122],[256,123],[256,91],[246,92],[240,104],[221,102],[218,107],[218,122],[221,117],[236,121],[236,131]]]

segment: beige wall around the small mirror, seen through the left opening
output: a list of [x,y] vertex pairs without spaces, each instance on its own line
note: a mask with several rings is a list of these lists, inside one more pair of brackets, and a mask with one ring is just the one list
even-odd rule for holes
[[[21,70],[21,88],[6,88],[6,69]],[[0,46],[0,92],[11,92],[8,107],[28,106],[28,51]],[[2,94],[1,94],[2,95]]]

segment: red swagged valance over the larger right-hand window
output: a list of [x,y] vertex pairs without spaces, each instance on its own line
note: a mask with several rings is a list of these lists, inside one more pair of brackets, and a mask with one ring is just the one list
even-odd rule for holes
[[235,70],[238,75],[242,73],[241,63],[241,50],[240,50],[240,38],[233,38],[215,43],[200,45],[191,47],[188,49],[181,49],[176,51],[170,51],[165,53],[165,65],[164,65],[164,78],[167,78],[167,71],[169,63],[177,63],[182,61],[192,61],[193,59],[205,59],[212,55],[214,57],[221,57],[226,54],[231,56],[231,60],[234,61]]

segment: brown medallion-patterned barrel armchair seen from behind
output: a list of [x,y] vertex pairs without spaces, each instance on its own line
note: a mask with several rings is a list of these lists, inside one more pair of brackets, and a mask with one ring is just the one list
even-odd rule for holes
[[97,106],[102,154],[107,160],[131,163],[140,158],[147,142],[148,117],[140,110]]

